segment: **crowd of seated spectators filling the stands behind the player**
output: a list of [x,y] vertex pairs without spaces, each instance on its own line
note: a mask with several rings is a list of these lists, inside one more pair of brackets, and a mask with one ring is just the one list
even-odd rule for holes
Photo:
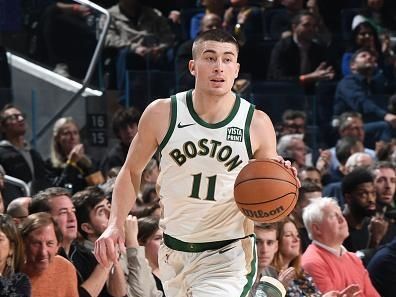
[[[110,79],[107,87],[121,91],[126,71],[155,69],[175,75],[173,90],[193,88],[188,71],[192,38],[218,27],[232,32],[241,45],[246,76],[236,80],[234,91],[247,99],[263,80],[294,83],[306,96],[316,94],[321,83],[332,83],[328,122],[321,123],[310,108],[284,110],[276,122],[277,151],[297,168],[302,186],[288,218],[257,224],[259,272],[278,278],[287,296],[356,296],[359,291],[394,296],[394,1],[95,2],[112,15],[102,62],[115,83]],[[26,54],[81,77],[100,16],[72,1],[47,1],[41,8],[31,20],[37,26],[29,31]],[[0,83],[7,87],[2,54],[6,75]],[[92,254],[107,226],[114,180],[140,116],[135,107],[114,113],[118,142],[95,160],[72,117],[57,120],[51,154],[41,156],[25,139],[23,110],[3,107],[0,213],[7,214],[0,215],[0,295],[163,296],[158,156],[142,173],[119,261],[101,267]],[[319,131],[312,141],[312,126],[331,131]],[[324,137],[328,134],[332,137]],[[31,197],[4,183],[4,175],[26,183]]]

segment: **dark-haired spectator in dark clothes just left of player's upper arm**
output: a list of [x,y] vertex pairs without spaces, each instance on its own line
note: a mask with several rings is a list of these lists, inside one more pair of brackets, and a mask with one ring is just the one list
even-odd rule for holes
[[137,133],[140,116],[140,111],[134,107],[120,109],[114,114],[112,128],[119,142],[107,152],[102,160],[100,168],[105,176],[108,176],[113,167],[121,167],[124,164],[129,145]]

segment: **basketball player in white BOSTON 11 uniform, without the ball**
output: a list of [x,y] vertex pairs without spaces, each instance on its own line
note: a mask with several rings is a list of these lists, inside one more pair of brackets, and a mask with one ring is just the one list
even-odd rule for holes
[[290,163],[277,156],[269,117],[231,92],[239,71],[236,40],[210,30],[195,40],[192,53],[195,89],[156,100],[144,111],[95,255],[105,266],[116,260],[141,172],[159,148],[164,244],[158,261],[165,294],[246,296],[256,274],[254,226],[235,204],[234,181],[252,158]]

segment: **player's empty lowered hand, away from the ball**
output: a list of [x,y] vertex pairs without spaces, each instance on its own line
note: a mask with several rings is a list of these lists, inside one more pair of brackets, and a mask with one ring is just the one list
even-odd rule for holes
[[118,260],[120,251],[125,251],[124,230],[109,225],[95,242],[95,258],[100,265],[109,267]]

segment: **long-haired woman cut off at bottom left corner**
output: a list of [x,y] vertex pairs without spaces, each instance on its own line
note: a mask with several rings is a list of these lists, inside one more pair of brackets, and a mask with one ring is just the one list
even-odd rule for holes
[[5,214],[0,214],[0,251],[0,296],[30,297],[29,278],[21,273],[25,260],[22,238]]

